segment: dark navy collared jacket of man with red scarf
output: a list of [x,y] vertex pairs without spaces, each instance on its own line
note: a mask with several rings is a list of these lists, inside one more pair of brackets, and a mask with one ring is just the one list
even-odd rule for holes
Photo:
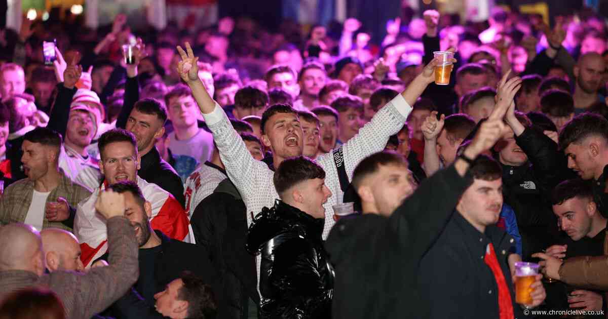
[[[507,261],[514,239],[494,225],[481,233],[455,212],[420,265],[421,293],[430,300],[430,318],[499,318],[498,285],[484,261],[490,242],[515,301]],[[515,303],[513,309],[517,317],[521,309]]]

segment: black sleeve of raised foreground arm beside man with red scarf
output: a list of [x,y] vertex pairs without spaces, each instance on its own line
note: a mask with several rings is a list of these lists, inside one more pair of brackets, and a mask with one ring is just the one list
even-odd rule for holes
[[425,179],[393,212],[391,225],[397,228],[399,241],[411,247],[412,258],[421,258],[437,239],[471,183],[472,177],[458,175],[452,164]]

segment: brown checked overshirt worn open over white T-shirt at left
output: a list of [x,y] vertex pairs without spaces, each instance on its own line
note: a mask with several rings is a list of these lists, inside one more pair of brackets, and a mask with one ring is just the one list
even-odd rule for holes
[[[56,202],[57,197],[63,197],[71,207],[76,207],[78,202],[83,201],[91,195],[91,192],[69,179],[63,170],[60,169],[61,179],[59,185],[50,192],[46,203]],[[26,221],[27,211],[32,204],[34,191],[34,181],[22,179],[11,184],[4,190],[4,195],[0,199],[0,224],[10,224],[12,222]],[[46,217],[43,219],[42,228],[58,227],[72,231],[61,222],[49,222]]]

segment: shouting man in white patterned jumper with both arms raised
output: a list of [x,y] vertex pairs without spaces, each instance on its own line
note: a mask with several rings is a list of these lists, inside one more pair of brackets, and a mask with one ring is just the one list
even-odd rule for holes
[[[278,198],[272,183],[274,172],[265,163],[255,160],[247,151],[245,143],[230,125],[223,109],[210,97],[199,79],[196,65],[198,58],[194,56],[190,44],[186,43],[185,46],[186,51],[178,46],[181,55],[178,72],[182,80],[192,89],[192,95],[213,132],[213,139],[218,146],[219,156],[226,166],[226,172],[243,196],[247,207],[247,224],[251,224],[254,214],[261,211],[264,206],[272,207],[274,200]],[[344,160],[336,162],[340,166],[344,165],[349,179],[352,177],[355,166],[362,159],[382,151],[390,135],[396,134],[402,128],[412,111],[411,105],[434,81],[435,64],[437,61],[431,61],[412,81],[406,91],[379,109],[371,121],[359,130],[359,134],[342,145],[336,152],[343,156]],[[297,112],[291,106],[279,104],[266,109],[262,116],[261,133],[262,142],[272,151],[275,167],[288,157],[302,155],[304,146],[302,127]],[[331,217],[333,215],[331,206],[341,202],[339,199],[344,196],[344,193],[340,189],[339,173],[333,154],[320,156],[316,162],[325,170],[325,184],[334,194],[324,205],[326,218],[323,238],[326,238],[334,224]]]

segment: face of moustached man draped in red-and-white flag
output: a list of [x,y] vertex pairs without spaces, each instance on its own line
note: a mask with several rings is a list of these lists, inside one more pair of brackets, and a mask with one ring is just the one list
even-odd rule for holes
[[137,182],[139,158],[137,149],[130,142],[109,143],[102,151],[99,168],[109,184]]

